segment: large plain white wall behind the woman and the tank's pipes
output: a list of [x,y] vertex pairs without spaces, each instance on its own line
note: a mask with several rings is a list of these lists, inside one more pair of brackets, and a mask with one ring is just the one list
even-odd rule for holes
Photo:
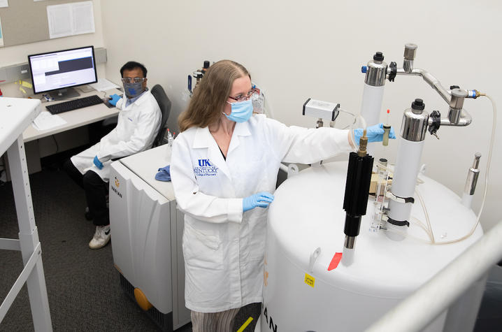
[[[101,10],[99,6],[101,5]],[[456,84],[479,89],[502,100],[498,43],[502,3],[481,1],[285,1],[285,0],[94,0],[96,34],[61,38],[0,49],[2,65],[24,62],[33,51],[87,45],[108,51],[106,76],[120,82],[119,69],[134,59],[148,70],[150,87],[160,83],[173,101],[170,127],[186,106],[187,74],[203,60],[234,59],[245,65],[265,89],[275,118],[286,124],[313,127],[301,115],[308,97],[339,102],[359,112],[364,74],[360,67],[374,52],[400,66],[403,45],[417,43],[416,68],[424,68],[445,87]],[[101,13],[103,13],[101,29]],[[101,40],[101,31],[103,40]],[[103,45],[101,45],[103,44]],[[1,86],[3,89],[3,86]],[[402,111],[416,97],[427,110],[447,112],[440,97],[420,78],[398,77],[387,82],[382,109],[390,122],[401,125]],[[482,175],[473,208],[480,208],[484,189],[492,108],[487,99],[469,100],[473,124],[442,128],[440,140],[428,137],[423,154],[427,174],[461,194],[473,154],[480,151]],[[382,111],[383,115],[383,111]],[[488,199],[482,224],[489,229],[501,219],[502,115]],[[339,123],[339,125],[344,125]],[[395,159],[396,143],[385,154]]]

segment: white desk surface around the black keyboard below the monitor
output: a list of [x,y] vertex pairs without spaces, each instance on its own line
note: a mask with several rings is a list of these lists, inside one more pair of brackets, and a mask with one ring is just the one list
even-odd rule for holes
[[[97,94],[100,97],[103,96],[103,92],[92,90],[91,92],[80,92],[80,96],[78,98],[91,96],[92,94]],[[106,92],[107,96],[109,96],[110,94],[122,94],[122,92],[120,92],[117,89],[112,89]],[[62,102],[64,101],[44,102],[42,103],[42,110],[46,110],[45,106]],[[66,124],[62,124],[61,126],[47,130],[38,130],[35,129],[33,125],[29,125],[27,129],[22,133],[22,137],[24,139],[24,142],[26,143],[29,142],[30,140],[36,140],[38,138],[43,138],[45,136],[54,135],[55,133],[60,133],[62,131],[66,131],[69,129],[85,126],[86,124],[98,122],[108,117],[113,117],[118,113],[119,113],[118,108],[108,108],[108,106],[106,106],[104,103],[85,108],[79,108],[78,110],[70,110],[69,112],[58,114],[66,121]]]

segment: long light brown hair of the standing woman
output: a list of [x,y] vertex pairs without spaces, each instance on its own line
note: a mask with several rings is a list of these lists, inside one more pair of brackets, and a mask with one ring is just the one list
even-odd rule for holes
[[180,131],[191,127],[208,127],[220,119],[230,96],[234,80],[248,75],[243,65],[231,60],[221,60],[208,68],[196,86],[187,110],[178,117]]

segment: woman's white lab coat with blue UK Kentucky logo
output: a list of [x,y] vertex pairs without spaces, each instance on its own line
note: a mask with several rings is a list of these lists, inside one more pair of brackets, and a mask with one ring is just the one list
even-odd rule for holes
[[243,198],[275,191],[281,161],[311,164],[352,149],[347,131],[286,127],[265,115],[237,123],[227,160],[208,128],[174,140],[171,180],[185,213],[185,301],[220,312],[261,302],[267,209],[243,212]]

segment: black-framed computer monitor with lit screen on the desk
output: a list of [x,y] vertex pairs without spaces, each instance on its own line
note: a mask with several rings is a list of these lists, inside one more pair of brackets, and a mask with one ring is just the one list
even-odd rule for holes
[[80,96],[72,87],[98,81],[93,46],[29,55],[28,63],[33,92],[55,100]]

